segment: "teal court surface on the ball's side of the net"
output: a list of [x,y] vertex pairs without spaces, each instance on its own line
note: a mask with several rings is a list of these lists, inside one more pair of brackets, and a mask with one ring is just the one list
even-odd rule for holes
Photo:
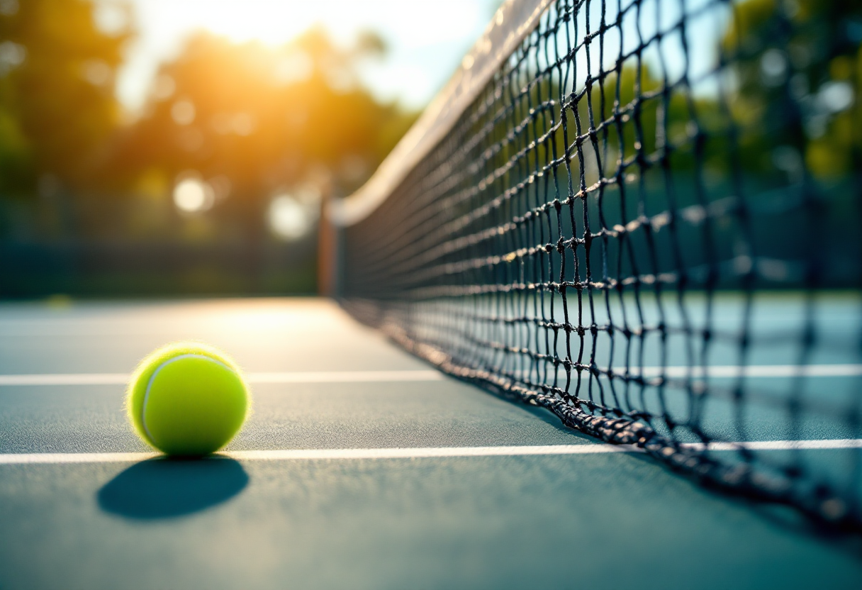
[[[822,322],[845,354],[809,380],[842,406],[849,307]],[[214,458],[157,458],[123,411],[135,363],[180,339],[252,382]],[[783,362],[755,358],[765,391]],[[855,444],[796,434],[826,471]],[[450,379],[326,299],[0,305],[0,590],[860,586],[858,537]]]

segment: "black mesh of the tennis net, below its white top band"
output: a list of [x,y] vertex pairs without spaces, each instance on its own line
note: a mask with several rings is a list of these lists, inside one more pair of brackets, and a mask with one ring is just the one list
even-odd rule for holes
[[859,527],[860,43],[851,2],[552,3],[344,230],[340,297],[447,373]]

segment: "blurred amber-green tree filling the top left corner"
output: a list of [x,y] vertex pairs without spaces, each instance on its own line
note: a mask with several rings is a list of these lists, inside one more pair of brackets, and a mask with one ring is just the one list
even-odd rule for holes
[[100,183],[96,170],[120,116],[114,75],[131,32],[128,19],[98,28],[97,8],[87,0],[0,3],[4,195],[33,195],[40,177],[78,191]]

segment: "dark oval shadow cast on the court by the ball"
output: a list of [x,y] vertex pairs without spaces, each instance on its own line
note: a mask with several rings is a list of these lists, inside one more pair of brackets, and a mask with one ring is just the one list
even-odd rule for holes
[[233,498],[248,485],[248,474],[228,457],[141,461],[118,474],[97,493],[105,512],[153,520],[200,512]]

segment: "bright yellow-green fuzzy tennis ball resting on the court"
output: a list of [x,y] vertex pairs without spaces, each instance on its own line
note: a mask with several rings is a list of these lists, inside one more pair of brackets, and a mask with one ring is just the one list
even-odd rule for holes
[[132,373],[128,419],[145,442],[167,455],[208,455],[245,422],[250,399],[240,367],[197,342],[159,348]]

